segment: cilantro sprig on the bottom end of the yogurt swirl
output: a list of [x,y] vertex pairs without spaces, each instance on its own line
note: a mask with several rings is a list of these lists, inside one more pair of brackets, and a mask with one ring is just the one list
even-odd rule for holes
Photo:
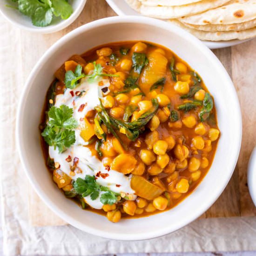
[[99,195],[100,191],[105,191],[101,194],[100,201],[103,204],[112,205],[117,201],[118,193],[113,192],[108,189],[108,187],[101,186],[95,180],[94,176],[86,175],[84,179],[77,178],[73,183],[73,187],[76,193],[80,194],[82,197],[90,195],[90,198],[94,201]]

